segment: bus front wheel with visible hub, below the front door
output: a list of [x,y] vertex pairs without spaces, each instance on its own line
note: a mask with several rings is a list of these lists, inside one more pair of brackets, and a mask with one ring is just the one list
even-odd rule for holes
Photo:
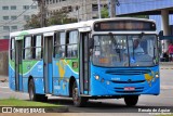
[[72,101],[74,101],[74,105],[78,107],[84,106],[84,104],[88,102],[86,98],[79,96],[79,89],[77,87],[76,81],[74,82],[74,86],[72,86]]

